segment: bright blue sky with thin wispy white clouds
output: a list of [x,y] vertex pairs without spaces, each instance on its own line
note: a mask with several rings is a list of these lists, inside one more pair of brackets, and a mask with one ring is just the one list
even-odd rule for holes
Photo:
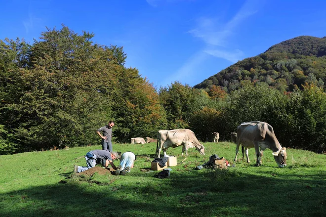
[[33,43],[61,24],[123,46],[126,67],[155,87],[194,86],[270,46],[326,36],[325,0],[5,0],[0,39]]

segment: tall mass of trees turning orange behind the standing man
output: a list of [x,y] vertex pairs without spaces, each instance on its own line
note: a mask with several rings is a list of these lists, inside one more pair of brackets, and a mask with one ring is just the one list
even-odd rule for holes
[[123,66],[122,47],[93,37],[63,26],[32,45],[0,41],[0,139],[14,144],[1,153],[99,144],[95,130],[108,120],[116,121],[117,141],[164,123],[155,89]]

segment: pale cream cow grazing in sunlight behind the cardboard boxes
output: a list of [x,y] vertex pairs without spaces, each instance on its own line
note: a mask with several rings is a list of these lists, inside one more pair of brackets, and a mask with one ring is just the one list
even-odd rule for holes
[[188,155],[188,148],[193,147],[195,147],[201,154],[205,154],[204,146],[198,141],[193,131],[188,129],[177,129],[159,130],[156,155],[160,157],[161,150],[163,149],[164,157],[168,157],[168,155],[166,155],[166,149],[169,147],[175,148],[180,145],[183,145],[182,156],[184,151],[186,151],[186,155]]

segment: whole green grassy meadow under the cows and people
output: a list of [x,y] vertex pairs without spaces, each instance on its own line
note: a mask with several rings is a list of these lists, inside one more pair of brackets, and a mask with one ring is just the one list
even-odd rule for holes
[[[0,156],[1,217],[302,217],[326,215],[326,155],[287,149],[287,167],[278,168],[272,151],[254,167],[238,155],[236,167],[226,171],[194,170],[211,154],[231,164],[235,144],[203,143],[206,155],[181,147],[168,149],[177,156],[170,178],[158,179],[149,169],[155,143],[114,144],[115,151],[133,151],[135,167],[126,176],[92,177],[72,174],[85,166],[87,151],[101,146],[28,152]],[[115,162],[116,165],[119,162]]]

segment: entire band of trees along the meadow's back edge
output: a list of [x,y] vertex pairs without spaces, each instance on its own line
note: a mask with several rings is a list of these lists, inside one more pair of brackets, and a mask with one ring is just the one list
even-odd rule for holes
[[282,92],[245,80],[227,91],[174,82],[158,90],[124,66],[122,47],[92,42],[66,26],[33,44],[0,40],[0,154],[99,144],[95,130],[116,123],[114,142],[188,128],[223,140],[242,122],[273,126],[283,146],[325,151],[326,93],[317,82]]

